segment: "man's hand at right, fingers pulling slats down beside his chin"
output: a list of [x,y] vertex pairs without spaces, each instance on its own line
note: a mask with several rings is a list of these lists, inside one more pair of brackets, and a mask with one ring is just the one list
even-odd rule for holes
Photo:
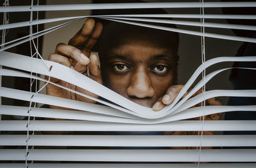
[[[162,97],[160,97],[158,99],[158,101],[154,104],[154,106],[152,107],[154,111],[159,111],[161,109],[164,108],[164,106],[168,105],[168,104],[171,104],[174,99],[177,97],[177,95],[179,94],[180,90],[184,87],[184,85],[173,85],[172,87],[169,87],[166,94],[163,95]],[[192,88],[189,88],[189,90],[191,90]],[[189,92],[188,90],[188,92]],[[186,92],[183,96],[185,97],[188,92]],[[195,96],[195,95],[198,95],[198,94],[201,94],[202,93],[202,89],[198,90],[195,94],[192,95]],[[216,98],[211,98],[211,99],[207,99],[205,101],[205,105],[212,105],[212,106],[221,106],[222,103],[219,99],[216,99]],[[202,106],[202,102],[196,104],[195,106],[191,107],[191,108],[194,108],[194,107],[198,107],[198,106]],[[211,116],[211,115],[210,115]]]

